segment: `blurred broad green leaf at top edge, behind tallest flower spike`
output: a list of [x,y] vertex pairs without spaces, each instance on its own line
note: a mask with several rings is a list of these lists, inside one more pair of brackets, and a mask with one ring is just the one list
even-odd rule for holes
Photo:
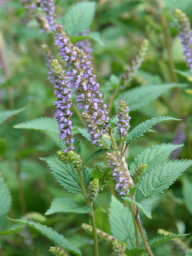
[[90,28],[95,12],[95,2],[74,4],[63,18],[69,36],[75,36]]

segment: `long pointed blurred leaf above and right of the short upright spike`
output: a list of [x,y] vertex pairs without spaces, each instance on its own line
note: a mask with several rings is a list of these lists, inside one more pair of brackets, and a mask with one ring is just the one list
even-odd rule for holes
[[118,102],[124,99],[129,104],[131,110],[139,109],[175,86],[181,86],[181,84],[142,85],[121,93],[116,100],[116,104],[118,105]]

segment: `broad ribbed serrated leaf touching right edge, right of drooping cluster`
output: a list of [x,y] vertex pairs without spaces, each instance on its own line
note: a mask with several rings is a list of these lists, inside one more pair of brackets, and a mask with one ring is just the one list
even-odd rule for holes
[[145,197],[162,194],[191,164],[187,159],[159,164],[145,173],[137,186]]

